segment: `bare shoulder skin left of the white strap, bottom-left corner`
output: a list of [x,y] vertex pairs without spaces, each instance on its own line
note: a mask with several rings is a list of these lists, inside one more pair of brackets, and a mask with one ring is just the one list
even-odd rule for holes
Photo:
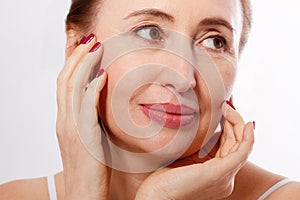
[[46,177],[16,180],[0,185],[0,199],[48,200],[47,197],[48,190]]

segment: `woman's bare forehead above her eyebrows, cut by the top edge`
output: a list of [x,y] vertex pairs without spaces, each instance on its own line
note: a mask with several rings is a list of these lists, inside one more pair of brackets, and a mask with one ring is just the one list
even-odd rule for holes
[[219,17],[235,30],[242,29],[240,0],[107,0],[101,12],[111,19],[123,19],[134,11],[149,8],[174,16],[177,23],[193,25],[204,18]]

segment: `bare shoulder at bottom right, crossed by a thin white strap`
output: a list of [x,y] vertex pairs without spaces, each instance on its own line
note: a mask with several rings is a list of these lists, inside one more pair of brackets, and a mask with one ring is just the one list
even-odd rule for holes
[[[258,199],[285,177],[248,162],[237,174],[232,195],[227,199]],[[300,183],[291,182],[275,190],[269,199],[300,199]]]

